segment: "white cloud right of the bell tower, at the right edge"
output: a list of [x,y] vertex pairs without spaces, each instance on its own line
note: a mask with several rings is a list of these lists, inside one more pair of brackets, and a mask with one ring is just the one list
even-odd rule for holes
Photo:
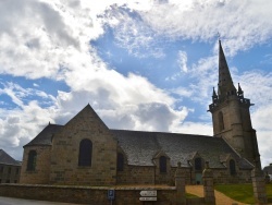
[[250,108],[252,126],[257,130],[259,150],[262,166],[268,166],[272,161],[272,73],[252,71],[244,73],[240,79],[244,95],[249,98],[255,106]]

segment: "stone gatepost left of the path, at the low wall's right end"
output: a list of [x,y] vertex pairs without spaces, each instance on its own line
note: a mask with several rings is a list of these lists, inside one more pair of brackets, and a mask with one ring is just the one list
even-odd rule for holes
[[182,171],[181,162],[177,162],[175,171],[176,205],[186,205],[185,174]]

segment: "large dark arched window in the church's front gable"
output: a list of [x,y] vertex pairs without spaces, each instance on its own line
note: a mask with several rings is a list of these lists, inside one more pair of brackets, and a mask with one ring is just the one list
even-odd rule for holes
[[92,143],[85,138],[79,144],[78,166],[91,166]]

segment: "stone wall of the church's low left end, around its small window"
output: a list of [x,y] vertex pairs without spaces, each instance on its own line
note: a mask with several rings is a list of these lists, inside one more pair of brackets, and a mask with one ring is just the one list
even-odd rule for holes
[[[36,150],[36,167],[34,171],[27,171],[28,153]],[[20,183],[48,184],[50,174],[51,146],[24,147],[23,164]]]

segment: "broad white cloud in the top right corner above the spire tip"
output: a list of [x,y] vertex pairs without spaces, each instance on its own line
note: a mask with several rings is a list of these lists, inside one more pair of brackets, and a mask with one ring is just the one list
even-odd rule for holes
[[[154,3],[141,12],[143,21],[158,35],[169,38],[209,40],[218,32],[224,39],[227,55],[235,55],[256,44],[263,44],[272,35],[272,2],[261,1],[170,1]],[[243,15],[242,15],[243,13]]]

